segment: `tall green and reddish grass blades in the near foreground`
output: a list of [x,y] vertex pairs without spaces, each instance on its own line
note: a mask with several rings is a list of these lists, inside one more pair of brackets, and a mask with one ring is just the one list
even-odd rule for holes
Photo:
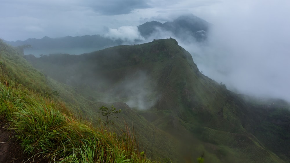
[[148,162],[128,127],[118,135],[77,119],[61,102],[0,81],[0,116],[11,121],[23,151],[51,162]]

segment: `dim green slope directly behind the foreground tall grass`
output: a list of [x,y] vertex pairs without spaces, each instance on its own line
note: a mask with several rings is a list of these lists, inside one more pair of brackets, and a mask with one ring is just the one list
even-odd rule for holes
[[[84,96],[77,93],[72,87],[59,83],[51,78],[48,78],[48,84],[50,87],[58,90],[59,96],[70,104],[70,108],[75,112],[80,112],[82,118],[88,119],[93,122],[94,126],[99,126],[98,119],[102,118],[99,115],[97,108],[102,106],[110,106],[104,102],[97,102],[90,100],[90,98],[84,98]],[[180,141],[173,138],[168,133],[158,129],[153,124],[150,124],[144,117],[140,116],[136,110],[131,109],[122,102],[113,103],[117,109],[122,109],[122,112],[118,115],[119,118],[113,118],[115,121],[115,131],[122,133],[122,129],[125,128],[124,122],[128,124],[128,127],[134,130],[137,139],[139,140],[139,149],[146,151],[148,158],[162,161],[165,158],[171,158],[172,160],[181,160],[178,151],[175,151],[179,146]],[[166,149],[166,150],[164,150]],[[198,156],[197,156],[198,157]]]

